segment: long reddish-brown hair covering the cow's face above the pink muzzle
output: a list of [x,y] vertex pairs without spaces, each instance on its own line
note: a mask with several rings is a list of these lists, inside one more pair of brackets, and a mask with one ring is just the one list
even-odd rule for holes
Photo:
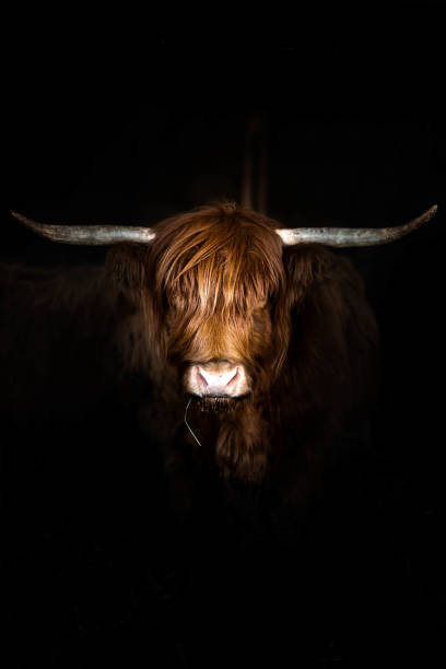
[[172,354],[265,360],[261,309],[284,283],[274,222],[231,203],[200,208],[160,225],[151,259],[156,298],[173,309]]

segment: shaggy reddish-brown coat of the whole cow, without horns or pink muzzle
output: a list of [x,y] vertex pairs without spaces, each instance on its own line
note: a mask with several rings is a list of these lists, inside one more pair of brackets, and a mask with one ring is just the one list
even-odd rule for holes
[[[167,469],[193,453],[227,481],[305,497],[369,402],[378,337],[353,267],[319,245],[282,247],[274,226],[221,204],[162,222],[150,247],[114,247],[105,268],[3,269],[3,407],[72,420],[138,375]],[[247,390],[193,397],[193,436],[185,371],[220,360]]]

